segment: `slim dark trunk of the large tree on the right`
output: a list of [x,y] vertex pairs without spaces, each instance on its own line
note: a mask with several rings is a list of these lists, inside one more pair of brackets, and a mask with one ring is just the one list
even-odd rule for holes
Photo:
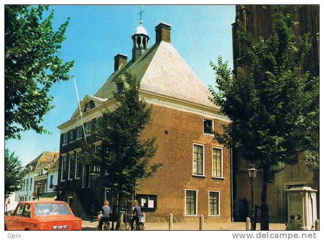
[[268,184],[269,172],[270,172],[270,167],[268,165],[264,165],[262,193],[261,193],[261,229],[260,230],[269,230],[269,212],[268,212],[268,204],[267,204],[267,184]]

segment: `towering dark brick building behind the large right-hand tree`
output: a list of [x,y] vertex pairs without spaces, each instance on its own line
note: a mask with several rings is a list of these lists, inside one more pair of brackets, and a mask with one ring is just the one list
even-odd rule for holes
[[[310,33],[312,37],[312,47],[306,56],[303,66],[304,71],[309,71],[311,76],[319,76],[319,6],[303,5],[297,9],[298,25],[295,28],[295,35]],[[236,20],[232,25],[233,29],[233,62],[234,73],[238,76],[236,69],[244,68],[243,45],[237,37],[237,21],[241,20],[243,25],[250,31],[254,40],[260,36],[267,37],[273,32],[273,19],[270,11],[264,9],[262,5],[237,5]],[[238,76],[239,78],[240,76]],[[298,156],[297,164],[280,164],[278,169],[283,168],[276,174],[275,180],[268,184],[268,205],[270,221],[286,222],[287,219],[287,195],[284,191],[291,186],[308,186],[319,190],[319,170],[306,166],[304,154]],[[248,216],[250,209],[250,185],[246,169],[250,167],[246,161],[238,161],[233,158],[233,200],[234,200],[234,219],[244,220]],[[258,173],[255,184],[255,204],[261,205],[262,172]],[[319,192],[317,194],[319,203]],[[319,204],[317,206],[319,216]]]

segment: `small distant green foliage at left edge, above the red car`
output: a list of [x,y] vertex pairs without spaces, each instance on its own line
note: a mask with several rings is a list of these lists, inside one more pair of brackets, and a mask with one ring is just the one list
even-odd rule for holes
[[20,189],[26,172],[23,171],[21,160],[15,152],[4,150],[4,197],[9,198],[11,193]]

